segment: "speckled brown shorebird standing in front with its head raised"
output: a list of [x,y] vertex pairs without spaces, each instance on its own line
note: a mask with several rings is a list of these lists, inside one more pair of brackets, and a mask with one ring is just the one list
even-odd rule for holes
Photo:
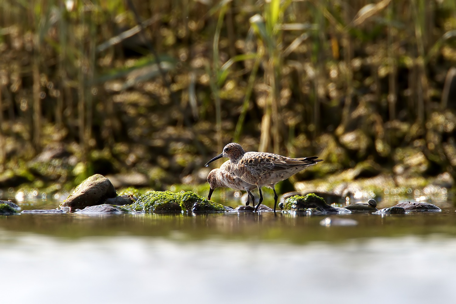
[[274,153],[266,152],[245,152],[236,142],[231,142],[223,148],[223,152],[212,158],[209,163],[228,157],[231,162],[231,172],[244,182],[255,185],[259,191],[259,202],[255,206],[258,210],[263,202],[261,187],[268,186],[274,191],[274,212],[277,207],[278,195],[275,192],[275,184],[289,178],[290,176],[304,170],[308,166],[321,162],[316,156],[291,158]]

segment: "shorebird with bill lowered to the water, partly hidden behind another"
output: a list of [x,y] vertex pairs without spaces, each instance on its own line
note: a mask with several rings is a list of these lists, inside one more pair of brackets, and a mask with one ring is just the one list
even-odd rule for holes
[[207,183],[209,183],[209,196],[207,199],[211,199],[212,192],[217,187],[231,188],[234,190],[245,190],[247,191],[247,203],[246,206],[250,203],[250,198],[252,198],[252,205],[255,205],[255,197],[250,192],[255,189],[256,186],[244,182],[242,179],[238,178],[231,172],[231,162],[228,160],[223,162],[222,166],[217,169],[212,169],[211,172],[207,175]]

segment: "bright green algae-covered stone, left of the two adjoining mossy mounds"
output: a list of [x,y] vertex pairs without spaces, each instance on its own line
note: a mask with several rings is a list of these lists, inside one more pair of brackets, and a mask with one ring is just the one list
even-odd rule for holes
[[136,211],[143,212],[181,212],[182,194],[171,191],[149,191],[131,204]]

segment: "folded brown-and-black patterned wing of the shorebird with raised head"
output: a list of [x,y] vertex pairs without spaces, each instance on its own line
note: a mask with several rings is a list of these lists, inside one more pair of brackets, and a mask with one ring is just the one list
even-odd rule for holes
[[256,174],[263,174],[271,172],[280,172],[290,168],[315,165],[317,162],[322,161],[322,159],[317,158],[318,157],[316,156],[290,158],[279,154],[255,152],[252,154],[244,155],[239,165],[249,168],[250,172],[254,172]]

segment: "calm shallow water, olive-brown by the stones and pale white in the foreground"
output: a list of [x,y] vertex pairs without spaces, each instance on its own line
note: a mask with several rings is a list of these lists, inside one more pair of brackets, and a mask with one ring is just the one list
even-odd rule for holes
[[444,210],[329,227],[271,213],[0,216],[2,303],[452,303],[456,212],[434,203]]

